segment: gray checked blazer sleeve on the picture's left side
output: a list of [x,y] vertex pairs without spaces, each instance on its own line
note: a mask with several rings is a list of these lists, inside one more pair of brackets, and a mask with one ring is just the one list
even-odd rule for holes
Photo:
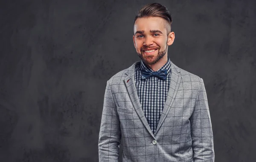
[[120,140],[120,121],[108,80],[99,131],[99,162],[118,162]]

